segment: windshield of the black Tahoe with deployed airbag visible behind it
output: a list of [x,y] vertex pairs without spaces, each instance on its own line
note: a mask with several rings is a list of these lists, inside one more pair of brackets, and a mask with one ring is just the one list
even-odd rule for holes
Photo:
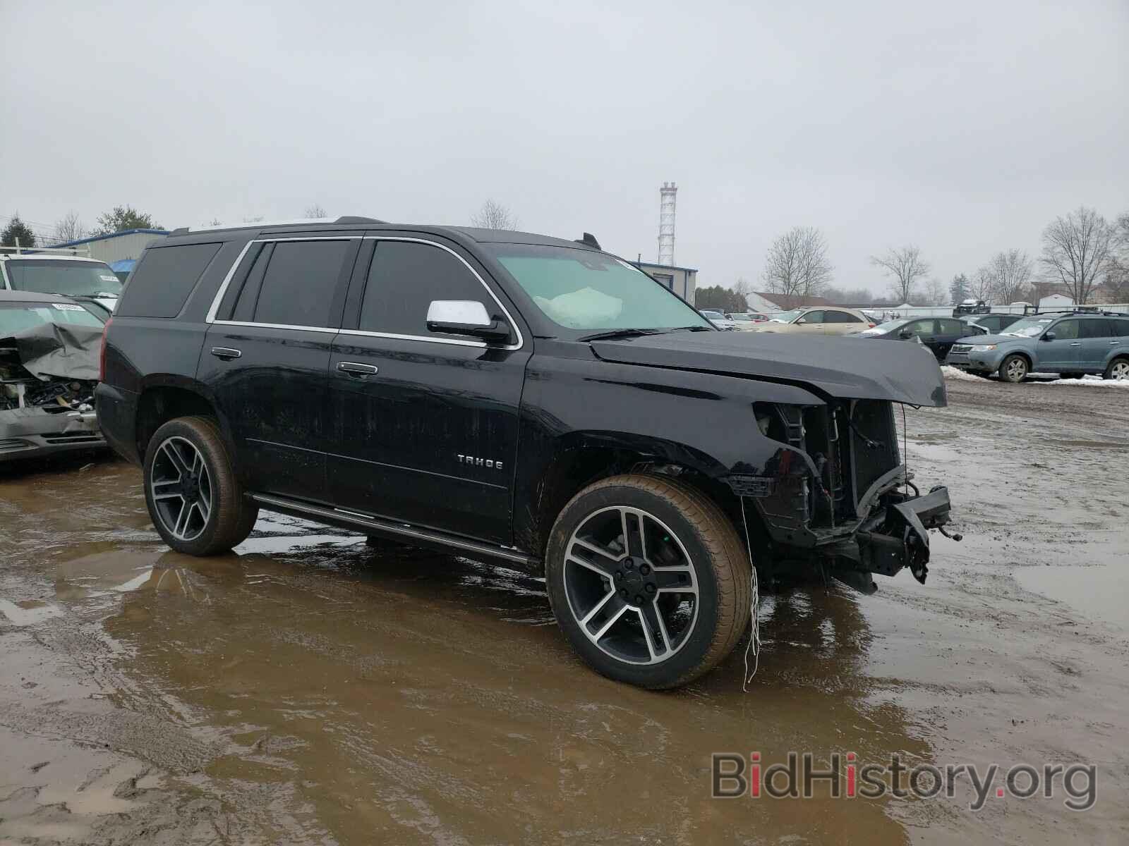
[[712,328],[669,289],[627,262],[587,249],[483,245],[541,312],[568,329]]

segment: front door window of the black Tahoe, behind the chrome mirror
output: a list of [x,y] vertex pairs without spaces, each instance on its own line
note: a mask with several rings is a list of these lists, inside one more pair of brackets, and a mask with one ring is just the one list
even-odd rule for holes
[[447,250],[412,241],[377,241],[365,283],[359,328],[436,337],[427,328],[432,300],[475,300],[491,315],[498,311],[478,277]]

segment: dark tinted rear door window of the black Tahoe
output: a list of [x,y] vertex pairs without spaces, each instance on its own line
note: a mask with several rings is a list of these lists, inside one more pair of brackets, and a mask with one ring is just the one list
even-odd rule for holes
[[341,265],[351,247],[348,240],[278,241],[263,276],[254,321],[329,326]]

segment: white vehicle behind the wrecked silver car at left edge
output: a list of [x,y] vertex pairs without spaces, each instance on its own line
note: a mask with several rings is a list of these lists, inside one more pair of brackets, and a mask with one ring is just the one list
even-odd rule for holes
[[0,253],[0,289],[95,302],[108,315],[122,282],[105,262],[50,253]]

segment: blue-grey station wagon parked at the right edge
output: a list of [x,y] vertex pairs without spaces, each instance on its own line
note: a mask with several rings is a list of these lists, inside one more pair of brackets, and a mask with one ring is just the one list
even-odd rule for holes
[[1009,382],[1022,382],[1029,373],[1129,379],[1129,315],[1032,315],[1003,334],[962,340],[953,345],[946,363],[986,376],[998,371]]

